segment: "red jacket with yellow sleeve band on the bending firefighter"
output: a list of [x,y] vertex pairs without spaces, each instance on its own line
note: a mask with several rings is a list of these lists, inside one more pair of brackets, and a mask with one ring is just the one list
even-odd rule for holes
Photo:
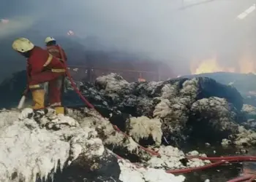
[[27,60],[27,75],[29,88],[39,87],[37,84],[49,82],[63,75],[65,72],[64,63],[47,50],[35,46]]

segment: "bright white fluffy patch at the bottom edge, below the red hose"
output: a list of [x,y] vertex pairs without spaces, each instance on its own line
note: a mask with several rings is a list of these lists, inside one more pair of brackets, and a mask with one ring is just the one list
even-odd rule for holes
[[118,164],[121,169],[119,180],[123,182],[159,182],[159,181],[171,181],[171,182],[183,182],[185,177],[183,175],[175,176],[170,173],[166,173],[162,169],[135,167],[130,162],[123,159],[118,159]]

